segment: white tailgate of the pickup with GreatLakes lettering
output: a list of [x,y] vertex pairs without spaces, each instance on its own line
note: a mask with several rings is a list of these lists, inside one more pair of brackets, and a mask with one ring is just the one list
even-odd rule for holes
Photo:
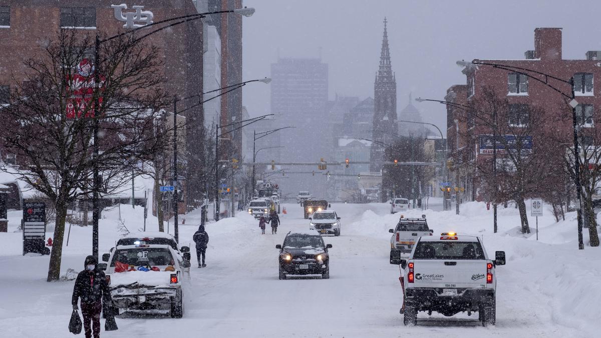
[[486,287],[486,260],[415,260],[414,287]]

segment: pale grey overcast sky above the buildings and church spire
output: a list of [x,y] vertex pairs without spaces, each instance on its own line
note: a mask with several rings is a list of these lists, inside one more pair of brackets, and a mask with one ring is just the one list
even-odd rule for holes
[[[401,1],[244,0],[255,7],[243,19],[243,79],[270,76],[280,57],[321,57],[329,64],[329,97],[373,97],[374,75],[388,18],[397,110],[409,92],[443,99],[448,87],[465,84],[457,60],[523,58],[534,49],[534,28],[563,28],[563,57],[601,50],[599,1]],[[270,88],[245,86],[251,116],[270,113]],[[443,105],[413,102],[424,121],[445,129]]]

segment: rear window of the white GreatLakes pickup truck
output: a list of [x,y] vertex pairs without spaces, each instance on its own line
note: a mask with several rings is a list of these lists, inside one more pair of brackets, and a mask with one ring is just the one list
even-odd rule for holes
[[418,242],[413,259],[484,259],[479,242]]

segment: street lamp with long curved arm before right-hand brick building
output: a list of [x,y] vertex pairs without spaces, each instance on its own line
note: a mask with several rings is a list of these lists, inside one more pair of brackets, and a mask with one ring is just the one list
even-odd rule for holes
[[[576,106],[578,106],[578,101],[576,101],[576,96],[574,92],[574,77],[572,76],[569,80],[558,78],[557,76],[549,75],[543,72],[538,72],[538,70],[528,69],[517,66],[510,66],[506,64],[498,64],[498,63],[490,63],[490,62],[481,62],[479,60],[473,60],[471,63],[467,61],[457,61],[457,66],[460,67],[468,67],[471,64],[482,65],[482,66],[491,66],[493,68],[507,70],[509,72],[519,73],[520,75],[528,76],[530,79],[534,79],[534,81],[538,81],[552,90],[557,91],[564,97],[566,103],[572,108],[572,129],[573,129],[573,138],[574,138],[574,182],[576,184],[576,194],[578,195],[578,201],[582,206],[582,186],[580,183],[580,154],[578,149],[578,121],[576,117]],[[539,79],[536,76],[532,75],[540,75],[543,76],[544,79]],[[563,84],[570,85],[570,94],[566,94],[560,89],[556,88],[554,85],[549,84],[549,79],[561,82]],[[496,140],[495,140],[496,141]],[[579,250],[584,250],[584,241],[582,239],[582,207],[577,210],[578,215],[578,248]]]

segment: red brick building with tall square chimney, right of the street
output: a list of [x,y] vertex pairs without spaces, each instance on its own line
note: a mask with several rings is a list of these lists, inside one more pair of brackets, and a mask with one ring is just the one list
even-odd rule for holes
[[[561,28],[534,29],[534,51],[526,51],[522,60],[474,60],[475,62],[502,64],[505,66],[522,67],[541,73],[547,73],[565,81],[575,80],[575,95],[579,105],[576,106],[578,121],[584,131],[593,129],[599,123],[599,108],[601,107],[601,90],[594,89],[595,79],[601,79],[601,51],[588,51],[584,60],[566,60],[562,57]],[[597,57],[597,55],[599,57]],[[563,138],[562,143],[570,144],[572,134],[572,108],[567,105],[565,97],[542,82],[508,70],[492,66],[469,64],[463,69],[466,75],[466,85],[454,85],[447,91],[447,101],[469,105],[483,95],[483,87],[492,88],[496,95],[507,98],[508,121],[513,126],[529,121],[530,112],[525,105],[542,109],[540,128],[553,128],[557,135]],[[528,72],[525,72],[528,73]],[[528,73],[545,81],[545,76]],[[549,84],[570,94],[570,85],[554,79],[548,79]],[[478,139],[480,135],[490,134],[486,128],[477,124],[468,125],[465,122],[456,124],[460,109],[447,107],[447,126],[449,151],[451,156],[458,153],[463,161],[479,161],[492,156],[480,150]],[[459,140],[456,139],[456,129],[459,129]],[[586,134],[586,132],[584,132]],[[583,139],[586,142],[585,139]],[[534,140],[536,142],[536,140]],[[485,199],[481,186],[474,181],[474,173],[469,166],[454,166],[451,177],[456,176],[459,184],[465,186],[462,195],[464,200]],[[452,182],[452,181],[451,181]],[[475,185],[471,188],[471,185]]]

